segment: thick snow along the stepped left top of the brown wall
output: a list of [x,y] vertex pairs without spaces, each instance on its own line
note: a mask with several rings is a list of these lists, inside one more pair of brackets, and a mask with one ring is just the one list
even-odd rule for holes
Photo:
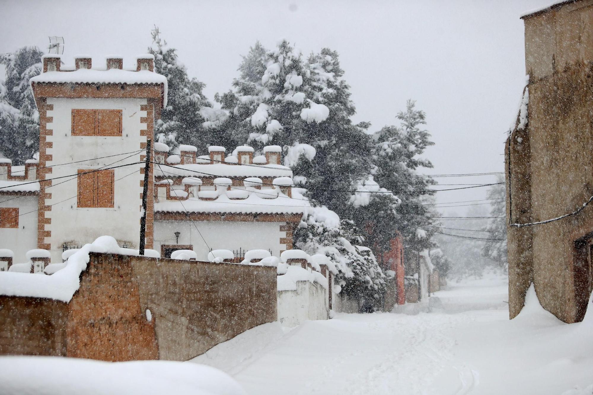
[[46,298],[68,303],[80,287],[80,273],[87,269],[91,252],[138,255],[138,250],[119,247],[113,237],[101,236],[72,254],[66,263],[48,265],[49,272],[53,272],[50,266],[58,269],[52,275],[0,272],[0,295]]

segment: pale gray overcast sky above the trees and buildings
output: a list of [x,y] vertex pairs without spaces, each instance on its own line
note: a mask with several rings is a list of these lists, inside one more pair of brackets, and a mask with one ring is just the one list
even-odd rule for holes
[[[44,48],[47,36],[63,36],[65,56],[132,56],[146,52],[157,24],[212,100],[229,89],[240,55],[256,40],[269,48],[286,38],[305,55],[330,47],[352,86],[355,122],[370,121],[373,131],[394,124],[413,98],[436,142],[426,152],[435,168],[426,173],[502,171],[503,133],[525,82],[519,15],[549,1],[0,0],[0,53]],[[495,177],[438,180],[486,183]],[[483,199],[485,193],[441,192],[437,201]]]

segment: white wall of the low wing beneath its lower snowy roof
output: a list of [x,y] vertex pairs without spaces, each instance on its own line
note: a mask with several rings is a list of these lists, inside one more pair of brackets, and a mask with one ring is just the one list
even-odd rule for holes
[[[280,250],[285,249],[285,244],[280,244],[280,237],[286,235],[286,232],[280,232],[280,225],[285,224],[286,222],[154,221],[154,249],[161,251],[162,244],[192,244],[197,259],[207,260],[207,243],[213,250],[270,249],[273,256],[280,256]],[[175,232],[180,232],[178,243]]]

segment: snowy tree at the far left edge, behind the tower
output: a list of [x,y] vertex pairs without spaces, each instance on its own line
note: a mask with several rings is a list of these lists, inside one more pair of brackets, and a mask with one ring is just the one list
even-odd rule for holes
[[0,146],[14,164],[22,164],[39,150],[39,112],[29,79],[42,71],[37,47],[22,47],[0,55],[6,77],[0,79]]

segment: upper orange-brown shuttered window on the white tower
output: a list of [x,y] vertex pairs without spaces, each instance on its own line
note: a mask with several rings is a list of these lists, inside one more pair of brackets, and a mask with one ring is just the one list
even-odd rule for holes
[[72,110],[72,136],[121,136],[122,110]]

